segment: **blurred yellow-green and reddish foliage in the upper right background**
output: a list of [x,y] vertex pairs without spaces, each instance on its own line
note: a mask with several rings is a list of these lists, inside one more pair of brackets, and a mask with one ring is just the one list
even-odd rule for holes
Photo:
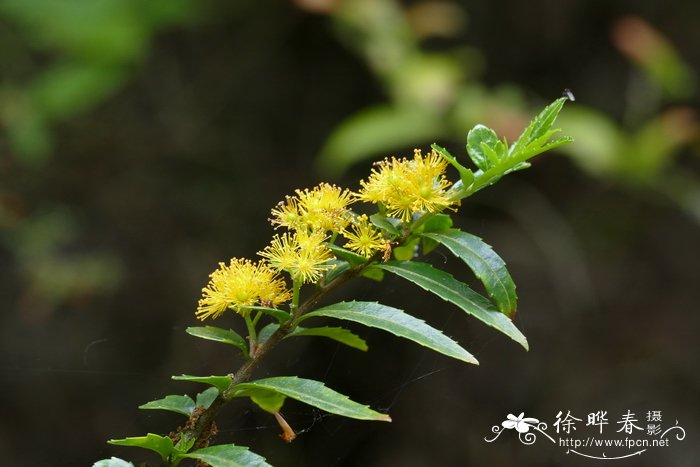
[[[425,46],[435,37],[462,32],[466,12],[456,4],[404,7],[395,0],[356,0],[342,2],[332,16],[338,36],[375,73],[388,102],[362,109],[336,127],[319,157],[324,171],[337,175],[396,148],[459,141],[464,128],[482,121],[512,138],[512,129],[531,112],[525,90],[488,89],[479,81],[484,61],[479,51],[461,41],[438,51]],[[561,124],[577,144],[561,152],[593,176],[662,193],[700,223],[700,179],[677,162],[698,140],[695,112],[678,103],[695,95],[697,77],[671,43],[640,18],[619,20],[612,38],[635,66],[625,120],[573,104]],[[669,184],[670,179],[678,183]]]

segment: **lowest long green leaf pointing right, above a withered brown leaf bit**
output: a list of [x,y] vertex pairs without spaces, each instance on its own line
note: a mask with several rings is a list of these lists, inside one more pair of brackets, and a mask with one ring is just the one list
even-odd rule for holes
[[375,412],[366,405],[353,402],[347,396],[326,387],[320,381],[312,379],[304,379],[297,376],[276,376],[249,383],[241,383],[234,387],[233,397],[240,397],[239,394],[245,396],[245,391],[251,389],[274,391],[343,417],[382,422],[391,421],[388,415]]

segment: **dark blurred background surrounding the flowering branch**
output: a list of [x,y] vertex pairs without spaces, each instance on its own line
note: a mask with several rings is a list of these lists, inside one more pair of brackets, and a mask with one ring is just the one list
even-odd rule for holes
[[170,375],[240,363],[184,329],[277,201],[432,142],[463,156],[475,123],[512,140],[565,88],[576,143],[457,215],[508,263],[531,350],[398,279],[357,283],[336,298],[403,307],[481,365],[359,327],[368,353],[298,339],[257,375],[322,379],[394,422],[289,401],[287,445],[240,401],[218,441],[279,466],[596,465],[484,437],[508,413],[660,410],[686,439],[616,465],[700,465],[698,21],[690,0],[0,1],[3,465],[155,462],[105,441],[182,423],[137,409],[203,389]]

